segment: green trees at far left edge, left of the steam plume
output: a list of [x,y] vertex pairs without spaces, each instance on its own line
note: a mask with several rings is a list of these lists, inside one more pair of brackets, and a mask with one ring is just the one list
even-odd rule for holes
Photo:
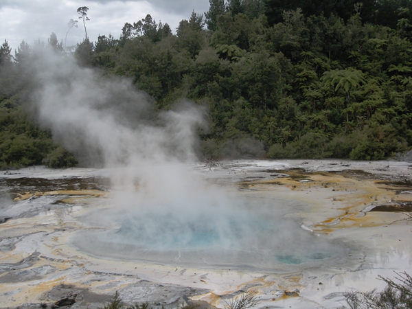
[[[41,43],[38,44],[38,48],[44,48]],[[62,44],[58,43],[54,33],[50,36],[48,46],[62,52]],[[32,80],[27,76],[27,71],[23,74],[23,67],[27,65],[26,61],[32,52],[33,49],[24,41],[14,57],[7,42],[0,47],[0,169],[42,163],[54,164],[52,167],[76,164],[76,159],[70,155],[66,155],[63,164],[56,164],[56,159],[52,160],[60,148],[52,141],[52,134],[39,128],[30,117],[31,108],[27,106],[27,98],[32,89]],[[44,161],[45,158],[49,159]]]

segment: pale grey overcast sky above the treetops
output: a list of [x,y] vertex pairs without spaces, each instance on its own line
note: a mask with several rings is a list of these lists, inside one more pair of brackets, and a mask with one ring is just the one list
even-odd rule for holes
[[81,6],[89,8],[87,34],[95,42],[99,34],[119,38],[124,23],[139,21],[147,14],[157,23],[168,23],[175,32],[179,21],[189,19],[193,10],[207,12],[209,0],[0,0],[0,44],[6,39],[14,55],[22,40],[30,45],[38,39],[47,43],[52,32],[64,42],[70,19],[79,22],[67,35],[67,46],[80,43],[84,27],[77,9]]

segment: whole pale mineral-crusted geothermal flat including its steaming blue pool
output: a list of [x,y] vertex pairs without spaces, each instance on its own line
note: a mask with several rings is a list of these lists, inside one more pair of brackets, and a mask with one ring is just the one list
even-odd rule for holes
[[117,291],[127,304],[224,308],[251,292],[258,308],[345,308],[346,291],[412,270],[409,163],[387,165],[226,161],[168,178],[150,167],[145,181],[4,172],[1,304],[102,308]]

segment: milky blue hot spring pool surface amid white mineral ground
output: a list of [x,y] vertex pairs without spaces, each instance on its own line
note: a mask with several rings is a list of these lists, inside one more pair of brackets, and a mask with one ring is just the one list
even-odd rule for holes
[[147,213],[125,211],[104,218],[92,212],[80,220],[105,228],[80,231],[72,241],[97,257],[262,271],[285,264],[336,263],[345,255],[342,244],[320,238],[285,218],[287,210],[304,207],[299,202],[262,193],[241,195],[227,209],[208,209],[207,205],[196,209],[194,205],[194,209],[182,210],[190,214],[150,210],[156,207],[149,207]]

